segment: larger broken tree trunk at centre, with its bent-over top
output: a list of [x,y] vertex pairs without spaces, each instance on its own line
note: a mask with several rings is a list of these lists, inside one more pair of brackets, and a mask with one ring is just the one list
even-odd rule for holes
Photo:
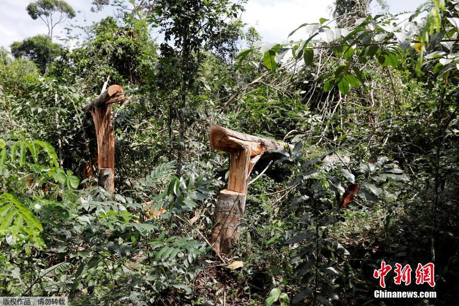
[[288,146],[218,125],[210,128],[209,139],[212,149],[229,153],[228,189],[220,191],[210,237],[215,252],[228,254],[239,239],[250,172],[262,155],[273,157]]

